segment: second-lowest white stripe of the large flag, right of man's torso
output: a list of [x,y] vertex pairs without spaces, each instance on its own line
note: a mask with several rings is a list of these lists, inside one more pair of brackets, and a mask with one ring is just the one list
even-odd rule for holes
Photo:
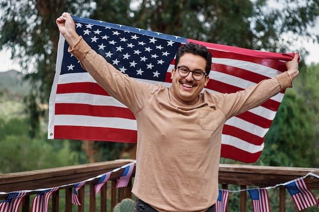
[[242,129],[246,132],[249,132],[253,135],[256,135],[258,137],[263,138],[264,135],[267,133],[267,131],[269,130],[269,128],[262,128],[259,127],[257,125],[254,125],[250,122],[247,122],[246,120],[243,120],[241,118],[237,118],[237,117],[231,117],[227,120],[227,122],[225,123],[225,125],[229,125],[232,127],[236,127],[238,129]]

